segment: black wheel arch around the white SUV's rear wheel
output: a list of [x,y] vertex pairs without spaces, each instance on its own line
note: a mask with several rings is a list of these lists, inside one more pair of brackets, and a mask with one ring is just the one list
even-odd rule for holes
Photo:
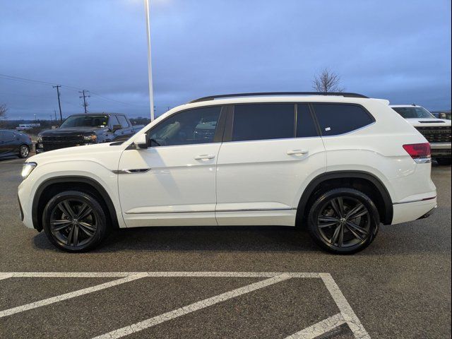
[[[374,189],[374,191],[370,191],[370,194],[376,198],[375,203],[380,213],[380,221],[384,225],[390,225],[393,220],[393,203],[386,186],[374,174],[362,171],[326,172],[312,179],[299,200],[296,218],[297,225],[305,220],[307,215],[305,211],[309,208],[312,198],[326,186],[329,189],[344,185],[357,188],[357,185],[364,183],[369,185],[369,189]],[[369,194],[369,192],[364,193]]]

